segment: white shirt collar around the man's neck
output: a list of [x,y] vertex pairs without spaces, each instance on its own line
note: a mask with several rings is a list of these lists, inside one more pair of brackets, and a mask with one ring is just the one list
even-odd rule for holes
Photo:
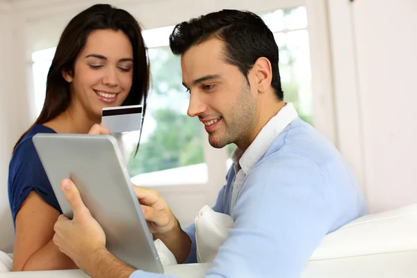
[[261,156],[265,154],[275,138],[297,117],[298,113],[293,104],[286,102],[286,106],[281,108],[277,115],[263,126],[254,142],[246,149],[246,152],[236,148],[231,154],[231,160],[235,163],[235,172],[238,172],[240,166],[243,172],[247,174]]

